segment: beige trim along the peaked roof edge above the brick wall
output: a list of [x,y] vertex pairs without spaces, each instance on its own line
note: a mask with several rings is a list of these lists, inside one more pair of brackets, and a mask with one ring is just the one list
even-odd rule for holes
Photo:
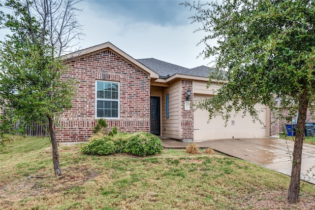
[[149,69],[147,66],[143,65],[142,63],[140,63],[139,61],[137,61],[136,59],[132,58],[131,56],[129,56],[128,54],[126,54],[124,51],[120,50],[118,47],[116,47],[115,45],[113,45],[110,42],[106,42],[103,44],[99,44],[93,47],[89,47],[83,50],[79,50],[73,53],[69,53],[67,55],[64,55],[63,58],[66,62],[70,62],[73,60],[77,60],[98,52],[102,52],[104,50],[110,50],[112,52],[114,52],[116,55],[120,56],[122,59],[126,60],[128,63],[132,64],[133,66],[135,66],[136,68],[138,68],[139,70],[142,70],[146,73],[148,73],[150,75],[151,78],[159,78],[158,73],[156,73],[155,71]]

